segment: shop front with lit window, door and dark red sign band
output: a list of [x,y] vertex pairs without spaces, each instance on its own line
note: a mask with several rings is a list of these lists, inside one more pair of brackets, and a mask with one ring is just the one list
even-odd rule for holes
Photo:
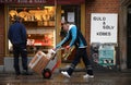
[[[71,5],[71,3],[73,4]],[[81,26],[80,22],[85,23],[85,19],[80,19],[81,14],[85,15],[85,1],[80,0],[78,2],[70,0],[20,0],[20,1],[1,1],[1,8],[3,9],[1,15],[3,16],[4,25],[2,27],[4,35],[4,42],[1,46],[5,46],[3,49],[3,59],[1,65],[4,71],[11,71],[12,64],[12,45],[8,39],[8,29],[14,21],[14,16],[19,15],[23,17],[23,23],[27,31],[27,51],[28,59],[32,59],[37,50],[43,50],[47,53],[48,49],[55,48],[61,38],[61,21],[68,21],[74,23],[84,33],[84,25]],[[3,13],[4,12],[4,13]],[[83,23],[83,24],[84,24]],[[61,51],[58,52],[58,57],[55,62],[61,60]],[[10,68],[10,69],[8,69]]]

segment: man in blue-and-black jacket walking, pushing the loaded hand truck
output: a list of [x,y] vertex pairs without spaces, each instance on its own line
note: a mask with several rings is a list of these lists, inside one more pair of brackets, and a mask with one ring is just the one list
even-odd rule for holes
[[80,59],[83,59],[83,62],[86,68],[86,74],[83,77],[94,77],[93,75],[93,69],[90,62],[90,59],[87,57],[86,52],[86,40],[83,37],[82,33],[80,32],[79,28],[76,28],[75,25],[70,24],[68,22],[62,23],[63,29],[68,32],[67,36],[63,38],[62,41],[60,41],[57,48],[60,48],[62,45],[68,42],[70,40],[70,44],[66,47],[67,49],[71,48],[72,46],[75,46],[76,52],[73,62],[71,63],[70,68],[68,71],[61,72],[64,76],[70,77],[76,66],[76,64],[80,62]]

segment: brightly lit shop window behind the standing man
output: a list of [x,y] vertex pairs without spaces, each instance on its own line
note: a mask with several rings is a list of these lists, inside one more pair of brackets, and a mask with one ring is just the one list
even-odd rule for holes
[[[37,50],[47,51],[55,47],[55,7],[9,7],[9,26],[14,16],[23,17],[23,24],[27,31],[27,51],[29,54]],[[8,42],[9,52],[12,45]]]

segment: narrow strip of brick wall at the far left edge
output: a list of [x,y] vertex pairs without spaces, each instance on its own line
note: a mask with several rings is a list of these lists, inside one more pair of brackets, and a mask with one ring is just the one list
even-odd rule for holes
[[4,44],[4,5],[0,4],[0,65],[3,64]]

